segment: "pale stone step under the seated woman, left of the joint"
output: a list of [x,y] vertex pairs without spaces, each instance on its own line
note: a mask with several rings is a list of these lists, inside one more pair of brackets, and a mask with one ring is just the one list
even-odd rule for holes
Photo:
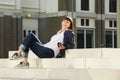
[[[0,59],[0,68],[14,68],[22,60]],[[84,59],[32,58],[28,60],[31,68],[85,68]]]

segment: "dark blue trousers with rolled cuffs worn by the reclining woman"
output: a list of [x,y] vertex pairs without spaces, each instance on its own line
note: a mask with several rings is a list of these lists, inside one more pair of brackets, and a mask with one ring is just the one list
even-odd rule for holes
[[22,50],[25,53],[25,57],[28,57],[29,49],[31,49],[39,58],[52,58],[54,57],[54,51],[50,48],[44,47],[38,37],[33,33],[29,33],[23,40]]

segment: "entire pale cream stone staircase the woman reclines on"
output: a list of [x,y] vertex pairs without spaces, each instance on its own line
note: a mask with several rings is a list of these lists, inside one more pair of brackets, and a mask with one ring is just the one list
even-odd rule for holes
[[30,68],[14,68],[20,61],[0,59],[0,80],[120,80],[119,48],[70,49],[65,58],[44,59],[30,51]]

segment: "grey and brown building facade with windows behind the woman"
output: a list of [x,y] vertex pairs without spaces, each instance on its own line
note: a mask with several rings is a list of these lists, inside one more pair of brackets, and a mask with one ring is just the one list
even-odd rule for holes
[[0,57],[29,32],[46,43],[66,15],[74,19],[75,48],[117,48],[117,0],[0,0]]

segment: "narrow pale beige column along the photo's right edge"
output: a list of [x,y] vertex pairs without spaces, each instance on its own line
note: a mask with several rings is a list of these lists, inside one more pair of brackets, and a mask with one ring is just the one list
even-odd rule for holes
[[120,48],[120,0],[117,0],[117,47]]

